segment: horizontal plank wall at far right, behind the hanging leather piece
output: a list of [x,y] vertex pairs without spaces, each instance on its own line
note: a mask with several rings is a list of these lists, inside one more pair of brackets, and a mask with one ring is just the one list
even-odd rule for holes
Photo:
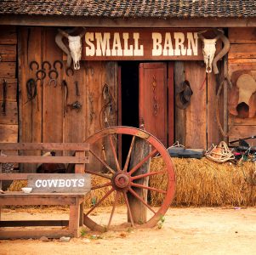
[[[247,138],[256,134],[256,94],[250,99],[248,118],[236,116],[236,99],[238,90],[236,80],[242,73],[250,74],[256,81],[256,29],[255,28],[230,28],[230,53],[228,69],[233,88],[230,90],[229,99],[229,140]],[[253,146],[255,139],[247,140]]]

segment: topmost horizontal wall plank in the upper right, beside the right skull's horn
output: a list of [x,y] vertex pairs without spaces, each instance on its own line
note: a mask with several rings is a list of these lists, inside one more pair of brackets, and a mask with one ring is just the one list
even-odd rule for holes
[[229,28],[230,43],[255,43],[256,29],[254,27]]

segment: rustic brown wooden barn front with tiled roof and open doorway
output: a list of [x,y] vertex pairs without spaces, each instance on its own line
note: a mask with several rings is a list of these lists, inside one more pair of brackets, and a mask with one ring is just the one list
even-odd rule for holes
[[[254,1],[3,1],[0,142],[82,142],[115,125],[143,125],[167,147],[253,136],[255,22]],[[80,69],[66,71],[59,30],[82,34]],[[230,48],[207,72],[202,38],[219,32]]]

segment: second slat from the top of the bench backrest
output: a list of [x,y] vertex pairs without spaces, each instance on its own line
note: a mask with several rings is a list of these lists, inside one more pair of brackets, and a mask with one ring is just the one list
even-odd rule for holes
[[0,156],[3,163],[63,163],[63,164],[85,164],[88,156]]

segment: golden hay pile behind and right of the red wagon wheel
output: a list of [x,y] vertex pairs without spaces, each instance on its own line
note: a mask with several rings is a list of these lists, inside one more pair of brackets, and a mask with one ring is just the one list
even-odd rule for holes
[[[255,206],[256,183],[252,181],[256,163],[243,162],[241,167],[230,162],[215,163],[207,158],[172,158],[176,173],[174,206]],[[161,169],[162,158],[151,162],[151,171]],[[167,178],[154,175],[150,181],[154,187],[164,189]],[[245,179],[247,177],[247,180]],[[162,203],[162,194],[151,194],[151,202]]]

